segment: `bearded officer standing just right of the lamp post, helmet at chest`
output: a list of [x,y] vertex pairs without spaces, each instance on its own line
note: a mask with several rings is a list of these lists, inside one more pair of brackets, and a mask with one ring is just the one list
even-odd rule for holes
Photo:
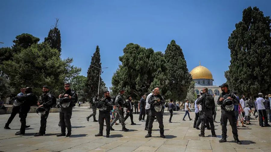
[[109,137],[110,134],[110,110],[112,109],[112,100],[110,97],[110,92],[104,92],[104,97],[101,98],[97,106],[99,107],[99,133],[95,136],[102,136],[104,130],[104,120],[106,124],[106,137]]

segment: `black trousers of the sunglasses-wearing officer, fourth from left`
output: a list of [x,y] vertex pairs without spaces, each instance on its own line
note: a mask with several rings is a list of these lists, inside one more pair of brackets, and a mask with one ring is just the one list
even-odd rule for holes
[[73,107],[67,107],[63,108],[61,106],[61,110],[59,113],[59,119],[60,119],[60,126],[61,126],[61,132],[66,133],[66,127],[67,127],[67,132],[71,132],[71,123],[70,123],[70,118],[72,116],[72,111]]

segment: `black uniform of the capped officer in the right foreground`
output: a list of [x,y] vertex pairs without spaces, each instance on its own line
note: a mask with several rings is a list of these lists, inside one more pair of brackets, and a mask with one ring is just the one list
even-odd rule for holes
[[217,104],[221,105],[221,126],[222,126],[222,138],[227,138],[227,122],[229,120],[229,123],[232,127],[232,134],[234,140],[238,140],[238,133],[237,133],[237,127],[236,127],[236,118],[235,113],[233,111],[226,111],[225,105],[223,105],[223,101],[219,101],[220,98],[228,98],[231,97],[233,99],[234,104],[239,104],[239,100],[236,97],[236,95],[232,91],[228,91],[228,93],[222,92],[220,96],[218,97]]

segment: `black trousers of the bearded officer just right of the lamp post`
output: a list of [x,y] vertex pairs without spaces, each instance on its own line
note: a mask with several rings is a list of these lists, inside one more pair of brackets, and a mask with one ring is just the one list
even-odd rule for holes
[[101,111],[99,110],[99,132],[103,134],[104,130],[104,120],[106,124],[106,135],[110,134],[110,111]]

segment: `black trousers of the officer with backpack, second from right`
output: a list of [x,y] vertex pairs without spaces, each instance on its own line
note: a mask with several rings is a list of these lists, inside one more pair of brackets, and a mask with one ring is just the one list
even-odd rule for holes
[[[216,132],[214,131],[212,111],[207,110],[207,111],[201,111],[201,112],[202,112],[201,113],[201,135],[204,135],[205,125],[207,126],[207,128],[211,128],[212,135],[215,135]],[[209,123],[210,123],[210,126],[209,126]]]

